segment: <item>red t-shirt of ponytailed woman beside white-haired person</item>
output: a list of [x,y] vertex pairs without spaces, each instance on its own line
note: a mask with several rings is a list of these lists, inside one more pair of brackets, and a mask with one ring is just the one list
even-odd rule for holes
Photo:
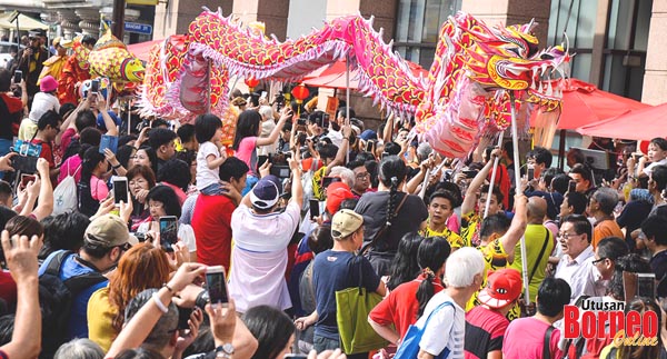
[[[199,248],[197,255],[199,256]],[[417,289],[422,280],[424,276],[419,276],[412,281],[398,286],[370,311],[368,317],[380,326],[394,325],[402,338],[408,328],[417,322],[417,312],[419,311]],[[434,295],[442,289],[440,283],[434,282]]]

